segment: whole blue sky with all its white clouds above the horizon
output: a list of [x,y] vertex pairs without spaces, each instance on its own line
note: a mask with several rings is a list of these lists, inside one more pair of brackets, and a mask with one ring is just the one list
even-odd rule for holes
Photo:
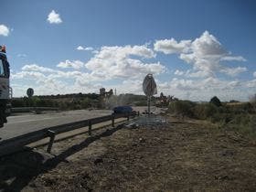
[[256,93],[256,1],[0,0],[14,96],[144,94],[248,101]]

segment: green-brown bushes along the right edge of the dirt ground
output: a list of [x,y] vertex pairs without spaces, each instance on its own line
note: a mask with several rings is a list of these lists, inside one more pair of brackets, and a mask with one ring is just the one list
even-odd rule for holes
[[173,101],[168,111],[182,117],[207,120],[219,128],[256,138],[256,95],[249,102],[220,102],[216,96],[204,103]]

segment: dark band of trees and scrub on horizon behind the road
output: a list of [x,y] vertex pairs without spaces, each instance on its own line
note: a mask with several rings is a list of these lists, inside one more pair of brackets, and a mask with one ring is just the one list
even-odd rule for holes
[[[155,104],[155,98],[152,98]],[[81,110],[88,108],[112,109],[117,105],[146,106],[147,97],[144,95],[120,94],[110,98],[102,97],[96,93],[73,93],[65,95],[44,95],[13,98],[12,107],[54,107],[59,110]]]

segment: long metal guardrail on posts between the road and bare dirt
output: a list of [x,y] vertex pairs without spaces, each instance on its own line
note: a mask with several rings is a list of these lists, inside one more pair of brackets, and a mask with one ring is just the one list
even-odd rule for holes
[[50,153],[51,146],[54,142],[54,138],[56,134],[73,131],[75,129],[79,129],[86,126],[89,126],[89,134],[91,134],[92,124],[112,121],[112,126],[114,126],[115,119],[122,118],[122,117],[126,117],[127,119],[129,119],[130,116],[135,116],[136,114],[137,114],[136,112],[126,113],[126,114],[112,114],[112,115],[97,117],[93,119],[83,120],[75,123],[60,124],[57,126],[44,128],[42,130],[38,130],[32,133],[25,133],[25,134],[16,136],[14,138],[7,139],[0,142],[0,156],[10,155],[18,151],[22,151],[24,146],[26,146],[27,144],[32,144],[34,142],[37,142],[47,137],[50,138],[50,141],[48,144],[48,153]]

